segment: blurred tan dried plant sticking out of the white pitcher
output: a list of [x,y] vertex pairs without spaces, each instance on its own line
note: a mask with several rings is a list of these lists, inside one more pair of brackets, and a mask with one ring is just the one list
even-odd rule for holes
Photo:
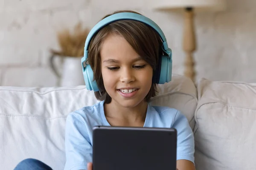
[[57,33],[58,43],[61,51],[51,50],[52,54],[68,57],[81,57],[84,55],[84,43],[89,34],[87,28],[83,29],[81,23],[78,23],[73,34],[64,29]]

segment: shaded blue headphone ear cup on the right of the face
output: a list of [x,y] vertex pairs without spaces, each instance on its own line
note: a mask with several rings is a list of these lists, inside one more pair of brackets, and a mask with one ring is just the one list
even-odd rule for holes
[[168,56],[162,56],[161,72],[159,84],[170,82],[172,80],[172,59]]

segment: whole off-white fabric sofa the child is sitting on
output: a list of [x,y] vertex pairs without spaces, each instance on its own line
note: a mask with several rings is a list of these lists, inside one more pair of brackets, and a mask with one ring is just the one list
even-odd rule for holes
[[[151,105],[183,112],[195,136],[197,170],[256,170],[256,85],[173,74]],[[0,87],[0,170],[39,159],[54,170],[65,163],[66,116],[97,99],[85,86]]]

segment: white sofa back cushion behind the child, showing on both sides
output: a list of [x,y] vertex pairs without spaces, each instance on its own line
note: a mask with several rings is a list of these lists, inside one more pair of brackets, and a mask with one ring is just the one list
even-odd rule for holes
[[[196,88],[186,77],[173,75],[159,85],[152,105],[182,111],[193,128]],[[73,88],[0,87],[0,169],[12,170],[21,160],[39,159],[54,170],[65,162],[64,127],[68,113],[98,102],[84,86]]]

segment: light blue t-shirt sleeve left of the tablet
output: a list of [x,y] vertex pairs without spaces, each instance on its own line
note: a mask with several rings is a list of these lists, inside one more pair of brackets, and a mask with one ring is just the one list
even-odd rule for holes
[[92,145],[84,122],[80,115],[70,113],[66,120],[64,170],[87,170],[87,163],[92,162]]

